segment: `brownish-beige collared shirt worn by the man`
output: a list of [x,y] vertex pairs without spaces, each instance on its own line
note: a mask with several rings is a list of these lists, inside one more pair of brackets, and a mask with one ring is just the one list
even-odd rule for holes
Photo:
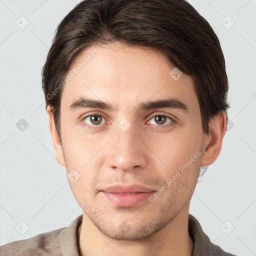
[[[81,220],[82,215],[79,215],[67,227],[2,245],[0,256],[80,256],[77,229]],[[188,232],[194,242],[191,256],[235,256],[211,243],[198,220],[191,214],[188,215]]]

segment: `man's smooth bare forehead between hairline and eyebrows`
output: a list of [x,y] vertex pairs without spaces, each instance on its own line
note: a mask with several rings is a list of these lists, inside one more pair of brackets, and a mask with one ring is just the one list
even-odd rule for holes
[[65,84],[61,104],[81,96],[112,102],[116,107],[166,97],[198,104],[192,77],[182,74],[163,54],[117,42],[83,50]]

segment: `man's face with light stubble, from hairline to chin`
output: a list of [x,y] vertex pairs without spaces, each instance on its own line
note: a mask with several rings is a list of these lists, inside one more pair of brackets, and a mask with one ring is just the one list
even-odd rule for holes
[[[63,87],[60,133],[69,183],[82,210],[109,237],[145,238],[188,211],[204,133],[193,81],[184,73],[178,78],[176,69],[170,75],[173,68],[152,50],[117,42],[92,46],[76,59]],[[82,97],[112,109],[88,107]],[[169,106],[148,108],[166,99],[172,99]],[[162,192],[105,191],[134,184]]]

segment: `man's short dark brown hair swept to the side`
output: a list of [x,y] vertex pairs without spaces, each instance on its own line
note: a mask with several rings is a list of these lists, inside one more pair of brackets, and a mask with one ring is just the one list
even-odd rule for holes
[[[74,59],[94,44],[120,41],[162,52],[191,75],[202,128],[229,107],[228,81],[219,40],[209,23],[185,0],[83,0],[59,23],[42,69],[46,106],[51,105],[60,138],[60,98]],[[59,93],[58,93],[59,90]]]

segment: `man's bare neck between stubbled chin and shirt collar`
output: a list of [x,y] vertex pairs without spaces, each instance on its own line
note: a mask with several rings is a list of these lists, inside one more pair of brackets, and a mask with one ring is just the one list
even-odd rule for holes
[[188,234],[188,207],[184,207],[162,229],[141,240],[112,239],[99,231],[83,212],[78,228],[80,255],[191,256],[193,241]]

